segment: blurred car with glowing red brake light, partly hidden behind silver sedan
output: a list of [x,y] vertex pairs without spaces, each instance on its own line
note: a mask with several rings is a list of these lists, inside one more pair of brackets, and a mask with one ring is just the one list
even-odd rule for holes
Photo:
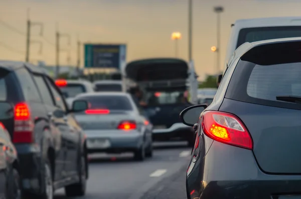
[[78,94],[94,92],[93,84],[87,80],[57,79],[55,84],[61,89],[68,107],[71,107],[73,99]]

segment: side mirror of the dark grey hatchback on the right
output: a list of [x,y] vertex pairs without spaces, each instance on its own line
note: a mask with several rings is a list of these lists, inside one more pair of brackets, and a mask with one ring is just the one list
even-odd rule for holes
[[194,124],[198,123],[200,114],[207,108],[206,104],[199,104],[195,106],[190,106],[184,109],[180,113],[180,119],[183,124],[188,126],[194,126]]

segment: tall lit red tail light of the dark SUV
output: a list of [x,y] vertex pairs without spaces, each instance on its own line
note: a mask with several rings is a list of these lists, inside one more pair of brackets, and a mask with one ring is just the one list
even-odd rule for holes
[[30,115],[30,108],[26,103],[15,106],[14,143],[32,143],[34,141],[34,124]]

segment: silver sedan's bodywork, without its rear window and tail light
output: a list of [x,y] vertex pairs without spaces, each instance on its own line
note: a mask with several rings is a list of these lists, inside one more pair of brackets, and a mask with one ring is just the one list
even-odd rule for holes
[[[85,99],[88,96],[124,96],[131,106],[131,111],[113,110],[109,114],[75,114],[83,131],[87,136],[87,148],[92,152],[133,152],[140,147],[152,147],[153,125],[139,113],[138,108],[128,93],[123,92],[95,92],[81,94],[76,99]],[[135,121],[136,129],[117,129],[121,121]]]

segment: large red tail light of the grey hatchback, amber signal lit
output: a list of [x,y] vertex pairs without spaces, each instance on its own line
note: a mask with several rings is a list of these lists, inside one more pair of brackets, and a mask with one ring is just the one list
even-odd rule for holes
[[253,149],[253,141],[242,121],[230,113],[206,111],[202,129],[212,139],[246,149]]

